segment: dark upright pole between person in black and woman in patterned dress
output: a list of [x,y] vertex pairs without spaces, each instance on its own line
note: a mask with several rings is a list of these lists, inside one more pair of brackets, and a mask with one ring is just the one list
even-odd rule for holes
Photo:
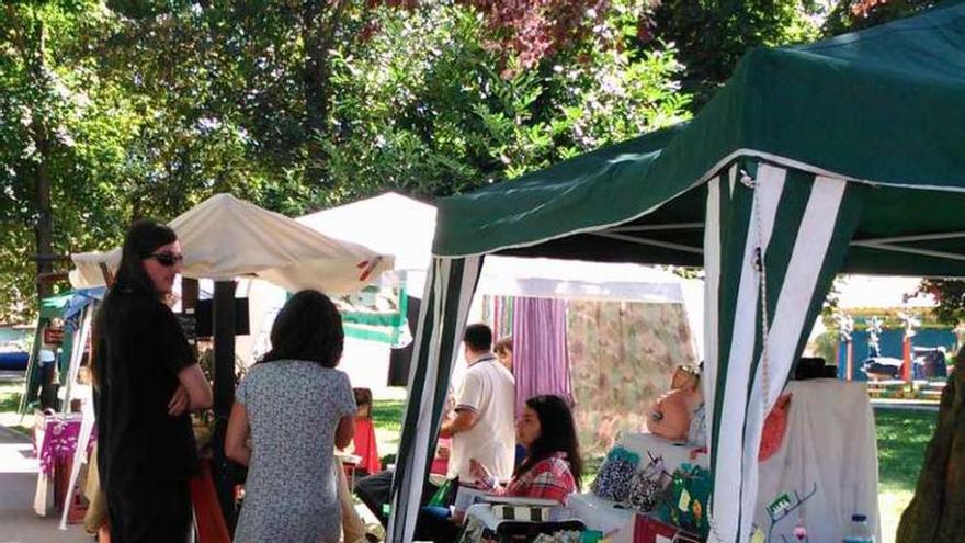
[[234,281],[216,281],[212,329],[214,332],[214,479],[228,531],[234,535],[235,464],[225,456],[225,433],[235,403],[235,286]]

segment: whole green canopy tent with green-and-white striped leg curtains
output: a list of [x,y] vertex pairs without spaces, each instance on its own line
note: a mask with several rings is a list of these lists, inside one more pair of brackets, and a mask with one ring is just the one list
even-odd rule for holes
[[439,202],[393,487],[411,541],[487,254],[703,265],[712,540],[747,541],[768,412],[838,272],[965,276],[965,3],[758,49],[692,122]]

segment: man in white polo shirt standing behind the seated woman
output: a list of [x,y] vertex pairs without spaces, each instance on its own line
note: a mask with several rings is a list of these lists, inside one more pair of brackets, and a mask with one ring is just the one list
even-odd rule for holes
[[492,353],[492,330],[484,324],[463,336],[468,370],[456,394],[455,417],[443,422],[440,437],[452,438],[449,477],[472,483],[469,461],[509,480],[515,456],[515,382]]

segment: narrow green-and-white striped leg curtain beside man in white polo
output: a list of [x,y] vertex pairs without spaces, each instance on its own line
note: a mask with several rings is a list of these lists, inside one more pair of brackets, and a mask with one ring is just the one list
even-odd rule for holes
[[435,258],[430,267],[409,372],[387,541],[412,541],[442,406],[481,267],[483,257]]

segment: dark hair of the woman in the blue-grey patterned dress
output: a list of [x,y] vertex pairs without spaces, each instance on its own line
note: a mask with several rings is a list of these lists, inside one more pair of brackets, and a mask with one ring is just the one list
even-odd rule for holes
[[261,362],[308,360],[322,367],[334,367],[345,342],[342,316],[325,294],[302,291],[279,312],[271,341],[272,349]]

